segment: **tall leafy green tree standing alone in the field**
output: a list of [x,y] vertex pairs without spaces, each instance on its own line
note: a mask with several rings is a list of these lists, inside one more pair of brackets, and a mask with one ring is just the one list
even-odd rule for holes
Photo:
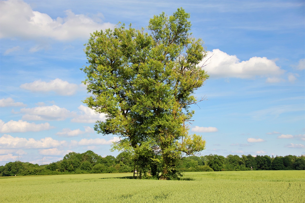
[[202,101],[194,91],[209,77],[197,66],[205,57],[203,41],[191,36],[189,14],[180,8],[172,16],[161,13],[147,31],[126,28],[96,31],[85,44],[88,92],[84,102],[105,121],[95,130],[121,138],[114,148],[131,151],[140,166],[161,179],[176,179],[181,152],[193,155],[205,148],[201,136],[188,134],[185,123]]

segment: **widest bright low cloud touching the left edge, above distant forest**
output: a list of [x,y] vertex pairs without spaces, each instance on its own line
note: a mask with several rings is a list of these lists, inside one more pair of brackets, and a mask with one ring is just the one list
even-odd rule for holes
[[0,137],[0,146],[3,149],[47,149],[58,148],[65,145],[66,141],[53,140],[52,137],[45,137],[40,140],[13,137],[7,134]]

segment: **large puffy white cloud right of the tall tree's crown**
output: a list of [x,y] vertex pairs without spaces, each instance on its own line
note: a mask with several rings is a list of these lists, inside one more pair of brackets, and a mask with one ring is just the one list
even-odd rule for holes
[[[211,77],[235,77],[235,78],[254,78],[258,77],[274,77],[283,74],[285,71],[278,67],[273,60],[266,57],[252,57],[248,61],[240,62],[235,55],[228,55],[219,49],[213,49],[209,52],[203,63],[211,57],[203,67]],[[275,79],[269,79],[275,82]]]

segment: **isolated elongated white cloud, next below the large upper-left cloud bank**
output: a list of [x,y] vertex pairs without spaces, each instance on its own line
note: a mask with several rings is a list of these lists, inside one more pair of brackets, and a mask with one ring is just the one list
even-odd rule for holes
[[25,83],[20,85],[20,88],[30,90],[32,92],[49,92],[54,91],[57,94],[63,96],[69,96],[74,94],[78,89],[77,84],[72,84],[67,81],[63,81],[59,78],[45,82],[41,80],[35,80],[32,83]]

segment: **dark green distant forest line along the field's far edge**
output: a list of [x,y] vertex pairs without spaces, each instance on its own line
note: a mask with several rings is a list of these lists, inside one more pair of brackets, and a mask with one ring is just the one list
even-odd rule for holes
[[[29,162],[9,162],[0,166],[0,176],[57,175],[81,173],[133,172],[135,161],[127,152],[117,157],[102,157],[88,150],[84,153],[70,152],[62,160],[45,165]],[[160,166],[161,167],[161,166]],[[240,170],[305,170],[305,156],[267,155],[205,155],[183,157],[177,163],[181,172],[191,171],[240,171]]]

